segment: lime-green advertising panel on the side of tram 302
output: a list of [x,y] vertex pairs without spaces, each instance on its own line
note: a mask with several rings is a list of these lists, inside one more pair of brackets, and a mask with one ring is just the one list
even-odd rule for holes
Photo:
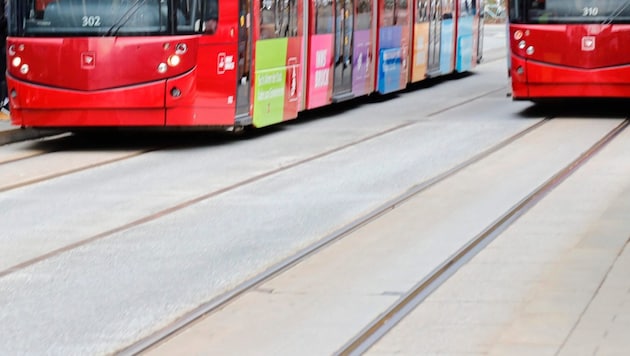
[[254,125],[267,126],[282,121],[287,60],[286,38],[256,42],[256,83],[254,86]]

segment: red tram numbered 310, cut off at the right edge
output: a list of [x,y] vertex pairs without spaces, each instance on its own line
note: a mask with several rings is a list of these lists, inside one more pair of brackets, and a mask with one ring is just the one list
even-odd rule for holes
[[630,6],[610,0],[510,0],[515,100],[630,97]]

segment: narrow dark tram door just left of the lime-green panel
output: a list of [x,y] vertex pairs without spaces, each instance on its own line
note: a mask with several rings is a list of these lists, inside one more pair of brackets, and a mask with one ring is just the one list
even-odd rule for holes
[[251,68],[251,9],[252,0],[239,0],[238,23],[238,83],[236,96],[236,116],[249,116],[250,107],[250,68]]

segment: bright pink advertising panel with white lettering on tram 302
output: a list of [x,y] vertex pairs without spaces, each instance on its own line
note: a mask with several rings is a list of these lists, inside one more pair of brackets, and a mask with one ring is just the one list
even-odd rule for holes
[[306,107],[313,109],[330,103],[332,97],[333,34],[311,36]]

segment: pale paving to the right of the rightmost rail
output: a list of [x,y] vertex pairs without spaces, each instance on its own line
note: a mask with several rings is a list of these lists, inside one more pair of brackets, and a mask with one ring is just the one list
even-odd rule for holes
[[620,164],[629,139],[624,132],[368,354],[630,354],[630,166]]

